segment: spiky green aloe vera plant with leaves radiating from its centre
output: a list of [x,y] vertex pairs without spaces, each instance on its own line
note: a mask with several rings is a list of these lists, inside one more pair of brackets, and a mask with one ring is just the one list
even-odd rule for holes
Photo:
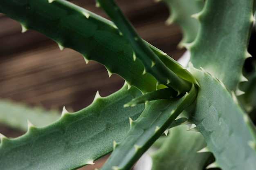
[[25,135],[0,135],[1,170],[72,170],[110,152],[101,170],[129,170],[158,138],[166,139],[152,155],[152,170],[256,169],[255,125],[237,99],[255,0],[164,2],[172,11],[168,23],[183,30],[179,46],[191,53],[186,68],[142,40],[113,0],[96,2],[112,22],[65,0],[0,1],[0,12],[22,32],[39,31],[126,81],[78,112],[63,108],[49,126],[28,121]]

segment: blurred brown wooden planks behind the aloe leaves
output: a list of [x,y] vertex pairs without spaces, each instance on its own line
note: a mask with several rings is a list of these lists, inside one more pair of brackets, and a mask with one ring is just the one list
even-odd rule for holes
[[[94,0],[71,2],[106,17],[95,7]],[[182,38],[178,26],[164,23],[169,15],[165,4],[153,0],[118,2],[144,40],[174,59],[184,53],[176,48]],[[109,78],[101,64],[85,64],[81,54],[71,49],[60,51],[54,41],[35,31],[21,33],[18,22],[0,14],[0,98],[47,109],[61,110],[66,106],[77,111],[92,102],[97,90],[106,96],[123,84],[117,75]],[[7,137],[21,134],[3,125],[0,133]]]

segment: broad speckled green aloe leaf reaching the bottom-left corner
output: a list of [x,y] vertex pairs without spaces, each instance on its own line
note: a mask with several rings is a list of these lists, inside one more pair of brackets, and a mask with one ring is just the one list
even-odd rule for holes
[[91,164],[112,151],[113,141],[121,141],[129,130],[129,117],[137,119],[144,105],[124,108],[141,95],[137,88],[124,86],[108,97],[76,113],[63,112],[49,126],[29,130],[15,139],[0,135],[1,170],[72,170]]

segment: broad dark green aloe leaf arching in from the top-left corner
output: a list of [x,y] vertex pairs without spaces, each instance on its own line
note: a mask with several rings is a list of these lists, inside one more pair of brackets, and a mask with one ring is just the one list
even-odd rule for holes
[[0,12],[17,20],[22,32],[33,29],[58,43],[60,49],[95,60],[143,93],[155,91],[156,79],[133,61],[133,51],[115,24],[66,0],[1,0]]

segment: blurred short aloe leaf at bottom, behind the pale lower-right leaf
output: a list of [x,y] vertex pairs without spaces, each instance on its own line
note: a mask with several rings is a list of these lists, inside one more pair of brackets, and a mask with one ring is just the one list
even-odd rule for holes
[[199,132],[187,128],[180,125],[170,129],[162,146],[151,155],[152,170],[203,170],[211,154],[197,153],[206,142]]

